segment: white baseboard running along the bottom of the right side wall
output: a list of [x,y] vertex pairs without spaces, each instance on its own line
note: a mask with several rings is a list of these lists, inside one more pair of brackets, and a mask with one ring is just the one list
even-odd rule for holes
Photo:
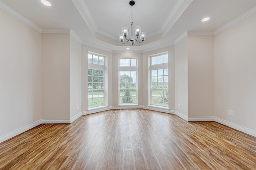
[[240,125],[237,125],[235,123],[232,123],[232,122],[220,119],[218,117],[214,117],[214,121],[216,121],[216,122],[218,122],[218,123],[220,123],[222,125],[226,125],[228,127],[232,127],[233,129],[236,129],[238,131],[241,131],[241,132],[244,132],[244,133],[247,133],[249,135],[252,135],[252,136],[256,137],[256,131],[254,131],[252,129],[248,129],[246,127],[242,127]]

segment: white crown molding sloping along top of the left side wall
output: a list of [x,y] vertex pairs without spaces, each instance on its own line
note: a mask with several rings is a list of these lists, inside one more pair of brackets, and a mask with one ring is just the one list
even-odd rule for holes
[[6,12],[9,12],[10,14],[12,14],[13,16],[15,16],[16,18],[18,18],[19,20],[23,21],[24,23],[26,23],[27,25],[29,25],[30,27],[36,29],[36,31],[42,33],[42,28],[40,28],[38,25],[34,24],[32,21],[28,20],[27,18],[25,18],[24,16],[20,15],[18,12],[16,12],[14,9],[10,8],[8,5],[4,4],[4,2],[0,1],[0,8],[2,8],[3,10],[6,10]]

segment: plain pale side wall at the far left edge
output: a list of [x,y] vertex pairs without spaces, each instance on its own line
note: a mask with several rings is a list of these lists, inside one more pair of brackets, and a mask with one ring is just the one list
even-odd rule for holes
[[0,136],[42,119],[41,33],[0,10]]

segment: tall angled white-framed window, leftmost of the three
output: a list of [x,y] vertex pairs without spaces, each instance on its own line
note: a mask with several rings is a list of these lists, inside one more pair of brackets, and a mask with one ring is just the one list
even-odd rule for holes
[[88,107],[105,105],[104,57],[88,54]]

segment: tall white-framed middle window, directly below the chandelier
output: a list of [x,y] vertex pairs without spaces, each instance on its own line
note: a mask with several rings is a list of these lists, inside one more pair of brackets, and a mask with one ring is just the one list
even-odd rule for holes
[[137,104],[137,59],[119,59],[119,104]]

